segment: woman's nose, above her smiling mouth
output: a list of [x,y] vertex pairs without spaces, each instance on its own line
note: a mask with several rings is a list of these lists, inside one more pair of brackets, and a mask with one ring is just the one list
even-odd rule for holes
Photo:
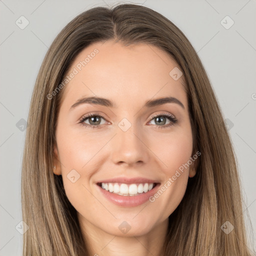
[[135,125],[132,124],[126,131],[117,126],[110,149],[113,163],[128,166],[146,163],[150,152],[146,144],[145,134]]

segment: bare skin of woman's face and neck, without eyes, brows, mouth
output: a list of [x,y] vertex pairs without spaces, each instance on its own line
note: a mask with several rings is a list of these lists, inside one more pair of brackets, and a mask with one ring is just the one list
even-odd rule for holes
[[[193,164],[154,202],[134,207],[108,201],[96,182],[115,176],[142,176],[163,184],[188,161],[193,141],[183,77],[174,80],[169,75],[177,64],[158,47],[144,43],[124,46],[114,41],[84,48],[68,73],[95,48],[99,52],[64,87],[53,172],[62,175],[90,255],[161,255],[168,216],[180,203],[188,177],[195,174]],[[77,99],[95,95],[113,100],[116,107],[84,103],[69,110]],[[149,99],[166,96],[177,98],[184,109],[173,102],[142,107]],[[100,128],[79,123],[83,115],[95,111],[106,117],[101,118]],[[151,118],[160,113],[170,113],[178,121],[161,128]],[[127,131],[118,127],[123,118],[131,123]],[[89,119],[84,121],[88,125]],[[163,126],[169,122],[166,117]],[[80,174],[74,183],[67,178],[72,169]],[[124,220],[131,227],[125,234],[118,228]]]

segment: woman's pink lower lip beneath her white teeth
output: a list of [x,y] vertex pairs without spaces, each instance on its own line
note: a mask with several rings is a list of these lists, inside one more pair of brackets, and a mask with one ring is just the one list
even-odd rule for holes
[[147,191],[146,193],[141,193],[139,195],[119,195],[115,194],[109,191],[106,191],[101,186],[96,186],[99,188],[100,192],[111,202],[113,202],[116,205],[124,206],[124,207],[133,207],[138,206],[146,202],[150,196],[152,196],[157,188],[159,187],[159,183],[157,183],[150,191]]

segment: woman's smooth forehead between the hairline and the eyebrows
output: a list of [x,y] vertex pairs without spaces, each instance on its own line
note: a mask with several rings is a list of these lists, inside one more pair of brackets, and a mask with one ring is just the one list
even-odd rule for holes
[[131,102],[173,96],[187,108],[183,76],[172,76],[179,69],[167,52],[154,45],[93,43],[73,60],[67,75],[75,75],[65,85],[61,101],[70,104],[81,96],[96,95],[131,107]]

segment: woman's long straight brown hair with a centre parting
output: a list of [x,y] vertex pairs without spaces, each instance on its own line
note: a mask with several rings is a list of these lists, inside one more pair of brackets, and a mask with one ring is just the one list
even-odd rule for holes
[[[193,151],[201,152],[178,207],[169,216],[164,255],[248,256],[236,159],[209,79],[192,45],[166,17],[136,4],[94,7],[57,35],[41,64],[32,93],[22,161],[23,255],[88,255],[76,210],[61,175],[52,171],[62,82],[75,56],[93,42],[147,43],[164,50],[183,73]],[[194,153],[193,152],[193,153]],[[221,226],[234,229],[226,234]]]

